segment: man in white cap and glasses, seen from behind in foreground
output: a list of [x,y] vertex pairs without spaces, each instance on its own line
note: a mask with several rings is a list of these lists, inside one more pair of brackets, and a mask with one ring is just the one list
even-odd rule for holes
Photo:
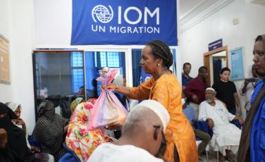
[[122,127],[120,139],[103,143],[89,157],[87,162],[104,161],[157,161],[164,146],[163,133],[169,123],[169,113],[163,105],[154,100],[145,100],[131,110]]

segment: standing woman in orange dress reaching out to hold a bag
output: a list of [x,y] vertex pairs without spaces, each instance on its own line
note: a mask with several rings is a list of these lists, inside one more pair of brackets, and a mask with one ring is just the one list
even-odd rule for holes
[[154,99],[167,108],[170,114],[169,125],[165,132],[167,149],[163,155],[167,161],[198,161],[195,134],[188,119],[182,113],[182,88],[169,67],[173,56],[169,46],[156,40],[147,43],[142,50],[140,61],[142,69],[152,77],[136,88],[103,86],[127,95],[130,99]]

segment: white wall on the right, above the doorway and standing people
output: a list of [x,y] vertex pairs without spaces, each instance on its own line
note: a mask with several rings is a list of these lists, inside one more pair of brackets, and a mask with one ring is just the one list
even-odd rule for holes
[[[248,77],[253,64],[254,39],[258,34],[265,34],[264,15],[265,6],[236,0],[180,34],[182,63],[191,63],[191,76],[196,77],[198,68],[203,65],[203,54],[208,52],[208,44],[222,39],[229,50],[244,47],[244,75]],[[239,19],[239,24],[234,26],[233,19]],[[235,81],[237,90],[241,83]]]

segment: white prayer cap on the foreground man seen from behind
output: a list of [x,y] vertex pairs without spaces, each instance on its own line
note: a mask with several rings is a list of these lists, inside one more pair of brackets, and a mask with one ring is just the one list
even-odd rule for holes
[[167,128],[167,124],[169,123],[170,116],[169,116],[169,112],[167,112],[167,109],[164,107],[164,105],[162,105],[158,101],[149,99],[149,100],[142,101],[141,103],[136,105],[134,107],[134,110],[136,110],[137,108],[142,108],[142,107],[149,108],[150,110],[153,110],[153,112],[155,112],[156,115],[158,115],[158,117],[162,121],[162,125],[163,125],[164,132],[165,132]]

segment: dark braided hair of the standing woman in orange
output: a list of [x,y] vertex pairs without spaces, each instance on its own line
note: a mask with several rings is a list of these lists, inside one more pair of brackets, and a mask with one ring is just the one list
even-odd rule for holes
[[160,40],[154,40],[147,43],[147,45],[150,45],[153,55],[156,58],[161,58],[163,60],[163,63],[166,68],[169,68],[173,63],[173,55],[171,53],[171,50],[169,49],[169,46],[160,41]]

